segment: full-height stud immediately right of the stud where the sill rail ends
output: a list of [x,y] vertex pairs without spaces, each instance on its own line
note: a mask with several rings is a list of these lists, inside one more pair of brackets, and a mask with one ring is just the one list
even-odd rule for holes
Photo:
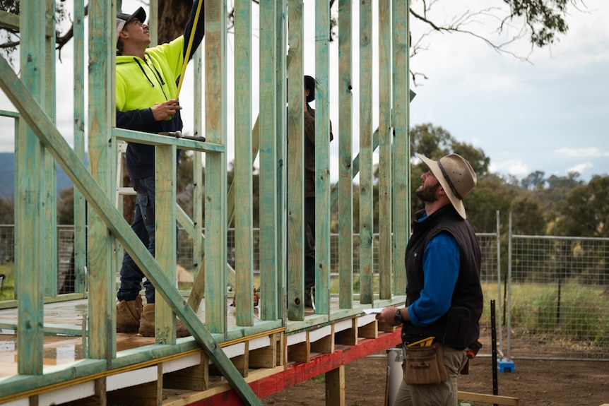
[[235,292],[237,326],[254,324],[252,1],[235,1]]

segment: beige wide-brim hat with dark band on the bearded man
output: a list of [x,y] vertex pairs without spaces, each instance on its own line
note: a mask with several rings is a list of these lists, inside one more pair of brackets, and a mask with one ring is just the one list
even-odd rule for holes
[[440,186],[447,193],[457,213],[461,217],[467,218],[465,206],[463,206],[463,198],[478,183],[470,163],[464,157],[457,154],[446,155],[437,161],[430,160],[421,154],[417,154],[417,156],[425,162],[425,165],[430,168],[434,177],[438,179]]

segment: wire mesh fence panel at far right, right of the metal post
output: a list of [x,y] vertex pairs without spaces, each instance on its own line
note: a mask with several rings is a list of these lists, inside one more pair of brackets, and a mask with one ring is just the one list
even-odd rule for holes
[[511,243],[511,356],[609,359],[609,239]]

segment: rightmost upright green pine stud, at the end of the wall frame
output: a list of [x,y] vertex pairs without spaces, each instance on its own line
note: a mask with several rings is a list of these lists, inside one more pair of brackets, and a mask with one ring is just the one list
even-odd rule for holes
[[[406,289],[406,268],[404,252],[410,235],[410,100],[415,96],[410,91],[408,76],[408,7],[410,2],[394,1],[391,16],[393,18],[393,120],[395,132],[393,148],[393,181],[394,190],[394,293],[402,294]],[[410,97],[407,97],[409,95]]]

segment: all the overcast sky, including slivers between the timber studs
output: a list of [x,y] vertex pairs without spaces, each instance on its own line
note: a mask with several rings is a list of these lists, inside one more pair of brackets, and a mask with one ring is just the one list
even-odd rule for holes
[[[230,1],[230,0],[229,0]],[[430,18],[442,22],[464,9],[478,10],[501,0],[440,0],[432,8]],[[66,1],[71,7],[71,1]],[[123,11],[134,11],[137,0],[124,0]],[[305,20],[314,20],[314,1],[305,0]],[[373,2],[376,8],[377,2]],[[416,4],[413,2],[413,6]],[[589,180],[593,174],[609,174],[609,2],[586,1],[587,8],[570,9],[566,37],[546,49],[535,49],[520,42],[509,48],[521,61],[508,54],[499,54],[483,41],[467,35],[434,34],[425,41],[427,51],[410,59],[412,71],[425,73],[427,80],[418,80],[412,86],[417,97],[411,103],[410,126],[432,123],[442,126],[458,141],[481,148],[490,157],[491,171],[524,177],[540,170],[546,176],[566,176],[577,171],[581,179]],[[357,26],[357,2],[354,2],[354,25]],[[254,11],[256,6],[254,6]],[[413,40],[422,28],[411,18]],[[254,64],[258,54],[258,24],[254,18]],[[471,25],[471,29],[497,41],[497,23]],[[512,33],[508,33],[510,35]],[[305,55],[314,55],[314,30],[307,30]],[[228,54],[232,54],[234,38],[229,35]],[[331,44],[331,66],[338,64],[338,41]],[[354,68],[357,74],[357,39],[354,42]],[[377,44],[374,45],[377,48]],[[376,49],[375,49],[376,51]],[[57,77],[61,83],[58,100],[57,126],[72,144],[73,98],[71,89],[72,52],[64,48],[62,62],[57,63]],[[227,64],[229,79],[232,63]],[[192,104],[189,89],[192,68],[187,70],[182,95],[184,131],[192,131]],[[253,94],[258,93],[254,69]],[[305,73],[314,76],[314,59],[305,58]],[[377,75],[376,71],[374,73]],[[338,123],[338,96],[336,80],[331,76],[331,119]],[[229,80],[231,82],[231,80]],[[228,129],[232,131],[232,83],[228,84]],[[354,97],[357,97],[357,83]],[[357,98],[354,106],[357,107]],[[14,111],[4,94],[0,94],[0,109]],[[204,110],[203,110],[204,111]],[[254,119],[258,112],[254,102]],[[357,129],[357,112],[353,128]],[[376,120],[377,112],[374,112]],[[334,124],[335,128],[337,124]],[[377,122],[373,124],[377,127]],[[0,152],[13,151],[12,125],[0,118]],[[357,153],[357,137],[354,154]],[[331,177],[338,177],[338,143],[332,143]],[[229,160],[232,159],[232,140],[229,137]]]

